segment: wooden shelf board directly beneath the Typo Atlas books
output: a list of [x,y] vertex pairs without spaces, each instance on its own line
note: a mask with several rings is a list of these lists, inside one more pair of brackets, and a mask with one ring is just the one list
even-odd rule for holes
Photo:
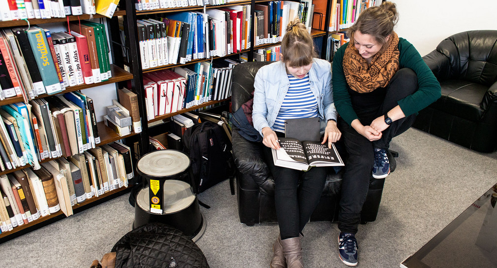
[[[122,68],[120,68],[116,65],[113,65],[113,64],[110,65],[110,72],[112,73],[112,77],[109,78],[107,81],[100,82],[97,84],[82,84],[82,85],[78,85],[78,86],[67,87],[62,92],[59,92],[57,94],[63,94],[63,93],[72,92],[72,91],[81,90],[81,89],[89,89],[89,88],[94,88],[94,87],[98,87],[98,86],[102,86],[102,85],[114,84],[116,82],[121,82],[121,81],[133,79],[133,75],[131,73],[128,73],[128,72],[124,71]],[[52,95],[54,95],[54,94],[52,94]],[[49,94],[41,94],[39,96],[36,96],[35,98],[42,98],[42,97],[47,97],[47,96],[50,96],[50,95]],[[0,100],[0,105],[7,105],[10,103],[16,103],[16,102],[22,102],[22,101],[24,101],[22,96],[9,97],[9,98],[5,98],[3,100]]]

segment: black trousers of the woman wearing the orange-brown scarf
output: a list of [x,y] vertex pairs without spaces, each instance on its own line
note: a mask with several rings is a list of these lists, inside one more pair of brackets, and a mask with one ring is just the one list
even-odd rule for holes
[[[394,75],[386,87],[383,103],[376,107],[354,110],[363,125],[369,125],[379,116],[397,106],[397,101],[417,90],[417,77],[413,70],[403,68]],[[415,114],[392,122],[382,131],[381,139],[369,141],[359,134],[343,119],[338,124],[342,131],[345,148],[348,153],[345,173],[342,177],[338,228],[342,232],[357,233],[361,219],[361,210],[369,189],[369,180],[374,163],[373,148],[388,149],[393,137],[408,130],[414,123]]]

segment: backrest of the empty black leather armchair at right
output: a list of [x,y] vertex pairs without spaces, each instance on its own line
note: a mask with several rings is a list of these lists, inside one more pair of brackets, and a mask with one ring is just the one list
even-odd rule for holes
[[497,31],[475,30],[444,39],[436,50],[449,58],[447,79],[463,79],[490,87],[497,81]]

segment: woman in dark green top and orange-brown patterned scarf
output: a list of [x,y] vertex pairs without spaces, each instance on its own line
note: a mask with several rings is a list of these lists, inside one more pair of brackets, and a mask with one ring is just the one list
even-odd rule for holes
[[[338,213],[338,251],[357,265],[357,226],[371,176],[390,173],[390,141],[411,127],[417,111],[440,97],[440,84],[414,46],[393,30],[395,3],[364,10],[333,57],[333,98],[348,153]],[[390,158],[389,158],[390,156]]]

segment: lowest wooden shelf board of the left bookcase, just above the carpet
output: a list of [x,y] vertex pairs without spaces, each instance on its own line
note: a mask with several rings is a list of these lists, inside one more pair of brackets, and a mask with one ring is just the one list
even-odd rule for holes
[[[91,197],[90,199],[86,199],[84,200],[82,203],[78,203],[76,205],[73,206],[73,211],[74,213],[78,213],[79,211],[83,210],[83,206],[88,206],[89,204],[97,204],[99,203],[98,201],[103,201],[102,199],[104,198],[108,198],[110,196],[117,196],[115,195],[116,193],[125,193],[127,190],[129,190],[130,187],[126,188],[126,187],[121,187],[119,189],[115,189],[113,191],[108,191],[98,197]],[[21,226],[17,226],[15,227],[12,231],[9,231],[9,232],[3,232],[0,234],[0,243],[3,243],[7,240],[10,240],[14,237],[17,237],[19,235],[22,235],[26,232],[30,232],[30,231],[33,231],[35,229],[38,229],[42,226],[45,226],[47,224],[50,224],[52,222],[55,222],[55,221],[58,221],[58,220],[61,220],[63,218],[66,218],[66,215],[64,215],[64,213],[62,212],[62,210],[59,210],[55,213],[52,213],[48,216],[45,216],[45,217],[40,217],[39,219],[37,220],[34,220],[32,222],[29,222],[27,224],[23,224]],[[35,227],[36,225],[36,227]],[[22,232],[24,231],[24,232]]]

